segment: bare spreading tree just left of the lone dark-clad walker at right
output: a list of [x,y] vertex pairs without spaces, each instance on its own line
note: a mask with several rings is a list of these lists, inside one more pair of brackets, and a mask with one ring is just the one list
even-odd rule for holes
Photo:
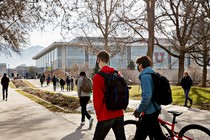
[[165,0],[159,2],[159,14],[156,15],[157,34],[168,39],[169,46],[159,42],[159,47],[171,56],[178,58],[178,83],[184,72],[185,55],[194,51],[196,44],[191,42],[192,32],[196,28],[197,13],[200,10],[196,0]]

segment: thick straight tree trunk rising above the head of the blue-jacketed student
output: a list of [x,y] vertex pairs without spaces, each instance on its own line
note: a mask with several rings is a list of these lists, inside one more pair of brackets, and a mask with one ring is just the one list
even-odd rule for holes
[[154,14],[155,14],[155,1],[147,0],[147,24],[148,24],[148,50],[147,56],[149,56],[153,62],[154,52]]

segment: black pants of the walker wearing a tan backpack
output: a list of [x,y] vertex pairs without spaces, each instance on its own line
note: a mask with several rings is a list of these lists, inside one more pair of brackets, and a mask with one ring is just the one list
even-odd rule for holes
[[80,101],[81,112],[82,112],[81,122],[85,121],[85,116],[88,118],[88,120],[90,120],[90,118],[91,118],[90,114],[86,110],[86,106],[87,106],[89,100],[90,100],[90,97],[88,97],[88,96],[80,97],[79,101]]

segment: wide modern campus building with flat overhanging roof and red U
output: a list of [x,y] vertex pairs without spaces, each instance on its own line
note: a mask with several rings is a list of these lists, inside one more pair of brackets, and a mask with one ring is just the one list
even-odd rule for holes
[[[128,43],[123,38],[109,39],[111,60],[110,65],[115,68],[126,68],[131,60],[135,62],[139,56],[146,55],[147,44],[143,40]],[[159,41],[165,41],[160,39]],[[36,67],[43,70],[52,68],[68,69],[74,64],[87,65],[94,68],[96,54],[104,48],[103,38],[99,37],[77,37],[70,42],[54,42],[33,57],[36,60]],[[177,69],[178,61],[171,57],[158,46],[154,47],[153,56],[154,68],[156,69]],[[190,61],[186,61],[186,65]]]

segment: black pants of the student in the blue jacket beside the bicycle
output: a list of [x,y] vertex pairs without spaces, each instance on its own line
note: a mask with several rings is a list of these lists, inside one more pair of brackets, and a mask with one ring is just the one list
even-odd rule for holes
[[159,114],[160,111],[156,111],[152,114],[144,115],[137,127],[135,140],[145,140],[149,135],[153,136],[155,140],[166,140],[158,122]]

